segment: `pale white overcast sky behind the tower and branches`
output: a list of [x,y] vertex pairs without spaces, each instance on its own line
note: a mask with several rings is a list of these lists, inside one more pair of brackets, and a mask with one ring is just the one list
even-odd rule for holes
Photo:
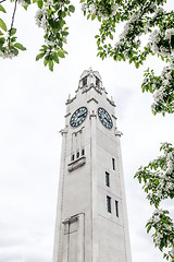
[[[75,1],[75,0],[74,0]],[[169,1],[172,7],[172,0]],[[117,128],[123,132],[122,154],[134,262],[162,261],[145,230],[152,207],[133,179],[141,165],[160,155],[161,142],[174,143],[173,116],[153,116],[152,97],[142,94],[144,70],[163,64],[150,58],[139,70],[125,62],[96,57],[98,25],[86,21],[76,7],[70,22],[69,56],[50,72],[35,57],[42,31],[36,10],[18,7],[18,41],[27,47],[13,60],[0,60],[0,261],[50,262],[53,250],[57,193],[64,128],[65,102],[74,96],[84,70],[101,74],[116,104]],[[11,11],[12,12],[12,11]],[[164,206],[172,211],[173,203]],[[173,214],[174,216],[174,214]]]

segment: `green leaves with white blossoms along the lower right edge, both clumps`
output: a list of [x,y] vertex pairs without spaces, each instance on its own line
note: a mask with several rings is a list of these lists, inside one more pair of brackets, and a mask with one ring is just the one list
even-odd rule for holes
[[174,261],[171,249],[174,247],[174,223],[167,215],[169,211],[159,210],[160,202],[174,199],[174,147],[163,143],[160,147],[163,155],[150,162],[148,166],[140,167],[135,178],[144,182],[144,190],[151,205],[157,209],[147,223],[147,233],[154,230],[152,238],[154,246],[161,251],[166,249],[164,258]]

